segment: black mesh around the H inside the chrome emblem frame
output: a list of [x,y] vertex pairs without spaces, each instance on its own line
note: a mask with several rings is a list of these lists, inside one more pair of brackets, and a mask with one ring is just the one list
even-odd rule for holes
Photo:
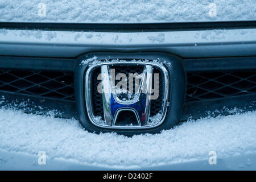
[[[141,74],[143,72],[143,67],[139,66],[118,66],[118,67],[112,67],[115,68],[115,75],[118,73],[125,73],[125,75],[128,77],[129,73],[138,73]],[[103,105],[102,105],[102,95],[98,93],[97,86],[100,84],[101,81],[97,80],[97,76],[100,74],[100,68],[96,68],[93,71],[92,74],[92,100],[93,100],[93,110],[95,115],[101,115],[102,118],[104,118],[103,113]],[[163,105],[163,73],[158,69],[154,68],[154,73],[159,73],[159,97],[157,100],[151,100],[151,110],[150,110],[150,116],[156,115],[159,113],[159,111],[162,109]],[[154,85],[153,85],[154,86]],[[133,114],[126,115],[132,121],[134,118]]]

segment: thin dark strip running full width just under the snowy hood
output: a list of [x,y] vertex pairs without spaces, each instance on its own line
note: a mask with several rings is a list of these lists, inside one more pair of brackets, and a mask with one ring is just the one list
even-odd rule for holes
[[29,23],[0,22],[0,28],[19,30],[96,31],[96,32],[155,32],[213,30],[218,28],[255,28],[256,20],[233,22],[176,22],[176,23]]

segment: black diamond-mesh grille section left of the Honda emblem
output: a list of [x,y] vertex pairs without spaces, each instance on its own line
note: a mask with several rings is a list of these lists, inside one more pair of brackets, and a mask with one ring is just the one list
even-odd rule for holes
[[0,69],[0,91],[75,100],[73,72]]

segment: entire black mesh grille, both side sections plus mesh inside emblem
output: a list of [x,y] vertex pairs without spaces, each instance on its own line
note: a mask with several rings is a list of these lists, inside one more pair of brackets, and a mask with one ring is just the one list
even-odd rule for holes
[[[139,67],[116,67],[116,73],[140,73]],[[92,75],[93,111],[95,115],[104,118],[102,96],[97,92],[100,81],[97,76],[100,69],[96,68]],[[163,75],[159,73],[159,97],[151,101],[150,115],[158,114],[163,104]],[[0,69],[0,92],[23,94],[38,98],[51,98],[54,100],[72,101],[75,103],[73,72],[61,71],[35,71]],[[211,101],[215,99],[234,98],[236,96],[250,96],[256,94],[256,71],[221,71],[221,72],[188,72],[187,94],[185,102]],[[40,105],[40,102],[37,103]],[[50,102],[47,102],[51,105]],[[73,107],[73,106],[72,106]],[[124,118],[134,119],[133,114],[120,115]]]

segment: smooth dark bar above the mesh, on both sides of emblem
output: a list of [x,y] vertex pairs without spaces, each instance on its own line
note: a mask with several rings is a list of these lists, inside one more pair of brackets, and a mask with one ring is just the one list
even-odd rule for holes
[[[0,56],[0,68],[74,71],[77,59]],[[186,72],[256,69],[256,56],[183,59]]]

